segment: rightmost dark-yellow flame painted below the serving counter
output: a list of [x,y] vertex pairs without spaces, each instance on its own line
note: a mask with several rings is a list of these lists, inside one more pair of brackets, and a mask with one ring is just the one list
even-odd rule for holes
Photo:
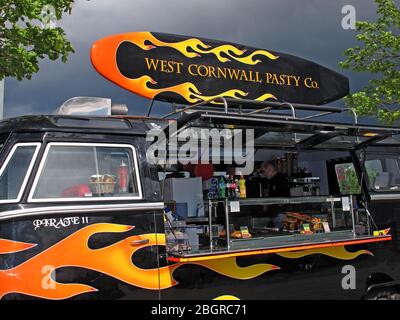
[[368,250],[358,250],[356,252],[349,252],[346,250],[344,246],[315,248],[315,249],[289,251],[289,252],[278,252],[276,254],[288,259],[298,259],[312,254],[323,254],[341,260],[353,260],[362,254],[368,254],[373,256],[373,253]]

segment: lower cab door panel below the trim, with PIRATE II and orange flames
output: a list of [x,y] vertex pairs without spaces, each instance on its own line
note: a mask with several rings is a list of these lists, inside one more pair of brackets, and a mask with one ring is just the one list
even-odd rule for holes
[[0,222],[3,299],[158,299],[155,210]]

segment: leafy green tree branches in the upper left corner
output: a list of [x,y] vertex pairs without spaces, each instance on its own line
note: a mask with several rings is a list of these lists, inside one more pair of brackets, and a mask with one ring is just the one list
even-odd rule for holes
[[39,70],[39,60],[48,57],[67,61],[74,52],[60,27],[44,20],[61,19],[71,13],[74,0],[0,0],[0,80],[30,79]]

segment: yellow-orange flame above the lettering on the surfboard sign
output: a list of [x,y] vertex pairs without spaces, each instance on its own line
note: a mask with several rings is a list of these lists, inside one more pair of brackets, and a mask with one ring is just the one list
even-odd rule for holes
[[[152,50],[156,47],[169,47],[179,51],[188,58],[196,58],[199,57],[200,54],[213,54],[220,62],[229,62],[232,59],[240,63],[255,65],[261,62],[261,60],[258,59],[254,60],[254,57],[258,55],[265,56],[271,60],[276,60],[279,58],[278,56],[266,50],[256,50],[247,56],[243,56],[246,53],[246,50],[240,50],[230,44],[225,44],[212,48],[211,46],[196,38],[191,38],[179,42],[163,42],[157,39],[150,32],[131,33],[128,40],[140,47],[142,50]],[[151,42],[152,45],[146,45],[146,41]],[[191,49],[192,51],[189,51],[189,49]],[[227,55],[230,59],[223,57],[222,54]]]

